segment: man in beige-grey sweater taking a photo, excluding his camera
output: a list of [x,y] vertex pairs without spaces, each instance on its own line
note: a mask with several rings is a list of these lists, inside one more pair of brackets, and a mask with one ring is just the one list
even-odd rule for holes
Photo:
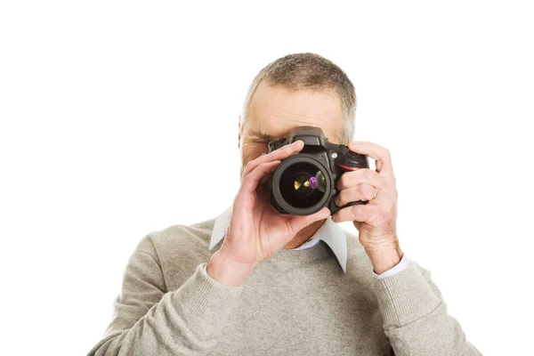
[[[145,236],[127,263],[115,313],[91,355],[480,355],[449,316],[430,272],[396,233],[388,150],[351,142],[356,95],[313,53],[260,71],[239,120],[241,185],[216,219]],[[270,179],[303,142],[268,151],[299,125],[376,160],[342,174],[338,206],[279,214]],[[359,236],[336,223],[352,221]]]

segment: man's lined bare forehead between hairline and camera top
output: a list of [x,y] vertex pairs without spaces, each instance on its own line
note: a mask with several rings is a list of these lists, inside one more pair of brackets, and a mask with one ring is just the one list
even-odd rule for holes
[[343,125],[337,93],[333,89],[291,89],[260,83],[250,101],[246,131],[278,138],[299,125],[319,126],[332,141]]

